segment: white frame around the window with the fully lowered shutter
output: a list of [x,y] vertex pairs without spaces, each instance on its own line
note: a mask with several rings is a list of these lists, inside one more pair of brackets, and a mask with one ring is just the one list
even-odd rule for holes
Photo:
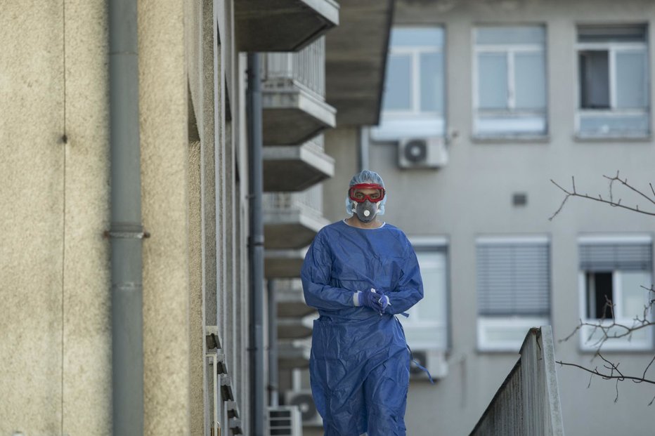
[[[477,237],[475,239],[476,250],[481,244],[548,244],[550,248],[551,242],[550,237],[547,235],[507,235]],[[552,267],[552,263],[550,263],[550,267]],[[552,287],[552,280],[549,284],[549,288],[550,287]],[[477,292],[478,290],[476,288],[476,295]],[[549,292],[552,296],[552,289],[549,289]],[[481,352],[518,352],[521,349],[521,345],[523,344],[528,330],[532,327],[550,324],[551,313],[552,298],[547,317],[521,315],[492,317],[488,315],[479,315],[476,308],[477,350]],[[490,338],[494,332],[500,330],[509,331],[512,338],[507,338],[505,340],[493,340]]]

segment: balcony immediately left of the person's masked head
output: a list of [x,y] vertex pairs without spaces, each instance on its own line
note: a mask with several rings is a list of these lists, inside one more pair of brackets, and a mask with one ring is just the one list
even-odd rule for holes
[[264,194],[264,247],[300,249],[309,245],[318,230],[330,222],[323,218],[323,187],[303,192]]

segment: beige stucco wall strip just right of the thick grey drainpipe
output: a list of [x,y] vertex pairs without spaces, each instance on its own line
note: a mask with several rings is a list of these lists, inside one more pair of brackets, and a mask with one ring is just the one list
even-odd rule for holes
[[188,84],[183,3],[138,3],[146,435],[189,433]]

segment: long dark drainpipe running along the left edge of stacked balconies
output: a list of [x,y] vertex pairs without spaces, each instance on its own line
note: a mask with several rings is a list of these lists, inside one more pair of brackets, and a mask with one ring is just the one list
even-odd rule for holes
[[249,146],[250,235],[250,434],[264,436],[264,192],[261,161],[261,81],[259,54],[248,54],[247,120]]

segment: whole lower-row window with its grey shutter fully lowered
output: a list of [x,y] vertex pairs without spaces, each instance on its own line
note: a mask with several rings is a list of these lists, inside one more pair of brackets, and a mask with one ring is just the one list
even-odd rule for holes
[[547,237],[476,241],[479,350],[518,351],[528,329],[549,324]]

